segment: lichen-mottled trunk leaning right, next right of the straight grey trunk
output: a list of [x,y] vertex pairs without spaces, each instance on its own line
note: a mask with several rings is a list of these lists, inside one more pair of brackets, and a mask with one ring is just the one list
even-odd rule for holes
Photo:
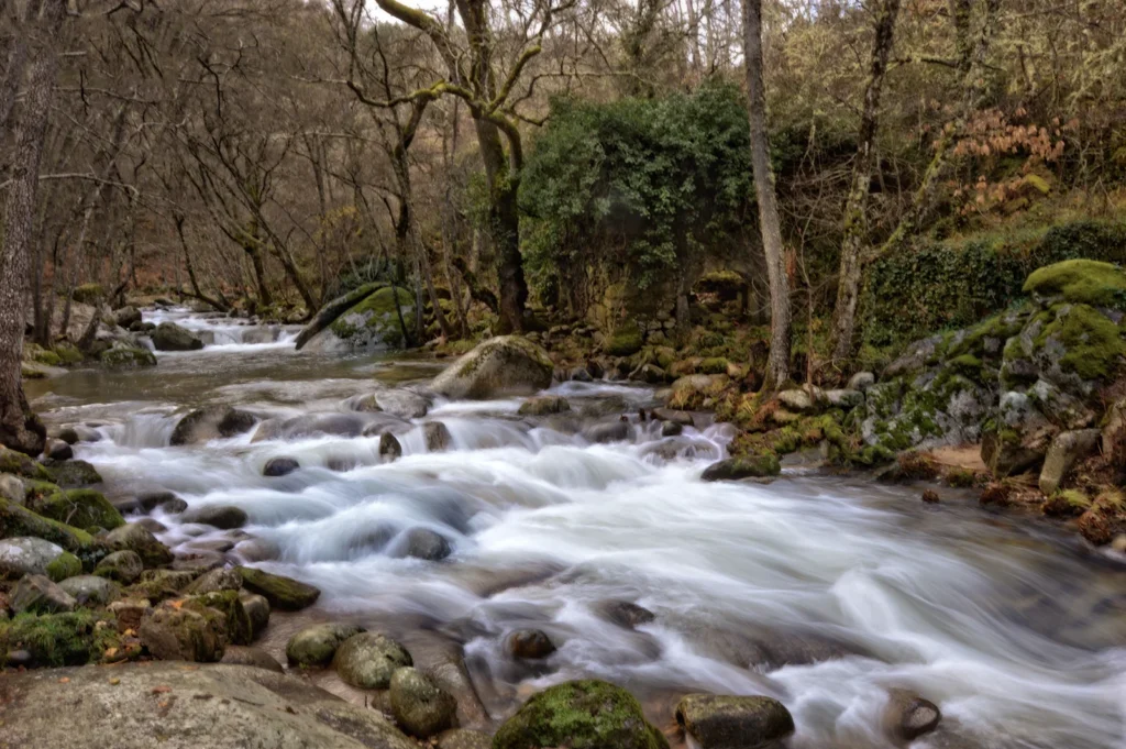
[[837,306],[832,321],[832,364],[840,366],[852,353],[856,307],[864,280],[864,255],[868,244],[868,189],[875,166],[875,140],[879,124],[879,95],[892,52],[900,0],[884,0],[876,16],[876,37],[872,46],[872,72],[864,92],[860,134],[852,169],[852,186],[844,205],[844,237],[841,240],[841,266],[837,280]]

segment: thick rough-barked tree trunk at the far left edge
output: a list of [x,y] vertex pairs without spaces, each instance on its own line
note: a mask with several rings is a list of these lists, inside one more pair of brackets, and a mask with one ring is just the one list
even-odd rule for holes
[[59,37],[65,0],[45,0],[35,26],[30,75],[24,97],[5,199],[5,241],[0,253],[0,443],[28,455],[43,452],[47,431],[24,394],[23,351],[28,294],[28,243],[39,182],[39,160],[59,62],[51,47]]

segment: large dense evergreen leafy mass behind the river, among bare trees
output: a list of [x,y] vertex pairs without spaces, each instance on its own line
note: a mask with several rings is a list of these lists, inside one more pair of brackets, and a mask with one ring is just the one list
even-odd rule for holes
[[610,104],[555,99],[520,205],[538,287],[574,292],[588,268],[627,268],[646,288],[700,252],[736,243],[751,200],[739,89]]

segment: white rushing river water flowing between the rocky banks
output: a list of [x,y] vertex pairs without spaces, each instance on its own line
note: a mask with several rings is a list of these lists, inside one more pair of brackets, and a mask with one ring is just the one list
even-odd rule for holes
[[[146,319],[175,319],[214,345],[158,354],[151,369],[29,383],[50,423],[98,425],[102,438],[77,453],[107,494],[170,490],[190,506],[243,508],[244,530],[276,554],[260,564],[320,587],[324,616],[426,627],[462,645],[494,717],[536,688],[589,676],[626,686],[658,720],[686,692],[774,695],[795,715],[793,747],[875,748],[890,746],[886,690],[904,687],[939,703],[946,729],[933,746],[1126,747],[1126,565],[1069,532],[989,514],[968,493],[930,506],[918,488],[861,478],[797,470],[770,484],[704,483],[730,439],[722,425],[662,438],[634,418],[626,440],[582,436],[618,419],[623,400],[631,413],[654,402],[649,389],[613,383],[556,386],[574,412],[545,419],[518,417],[519,400],[438,401],[391,426],[404,453],[394,463],[364,436],[170,447],[190,408],[348,412],[377,383],[425,382],[440,363],[297,353],[293,329],[186,311]],[[608,401],[608,416],[583,416]],[[448,451],[427,451],[428,420],[449,428]],[[263,478],[278,456],[302,470]],[[181,552],[230,535],[154,516]],[[453,554],[404,556],[418,527]],[[614,623],[620,601],[655,619]],[[558,645],[537,667],[502,644],[529,627]]]

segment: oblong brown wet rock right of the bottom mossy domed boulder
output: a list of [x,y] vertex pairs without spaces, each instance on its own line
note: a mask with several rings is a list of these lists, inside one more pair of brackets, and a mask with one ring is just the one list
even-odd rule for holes
[[677,723],[700,749],[759,749],[780,746],[794,719],[777,699],[688,695],[677,705]]

